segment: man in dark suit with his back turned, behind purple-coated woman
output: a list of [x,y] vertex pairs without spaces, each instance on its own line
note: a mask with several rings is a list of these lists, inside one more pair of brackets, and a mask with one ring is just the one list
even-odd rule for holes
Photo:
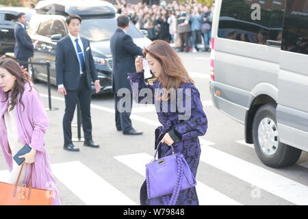
[[[112,86],[114,91],[115,109],[116,109],[116,129],[123,131],[125,135],[141,135],[142,132],[136,131],[131,126],[131,105],[133,97],[131,85],[127,80],[127,73],[136,72],[135,56],[142,55],[142,49],[133,43],[131,36],[127,34],[129,28],[129,18],[127,16],[118,16],[118,29],[110,39],[110,49],[112,51],[113,70],[112,70]],[[127,112],[119,112],[118,103],[121,96],[118,96],[118,90],[127,88],[129,90],[131,105]],[[125,96],[126,98],[126,96]],[[125,105],[123,105],[125,107]],[[126,107],[125,107],[126,108]],[[122,111],[122,110],[121,110]]]

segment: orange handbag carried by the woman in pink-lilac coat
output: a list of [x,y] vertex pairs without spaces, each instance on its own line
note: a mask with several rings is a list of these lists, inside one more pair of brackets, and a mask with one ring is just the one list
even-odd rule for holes
[[52,205],[53,191],[32,188],[34,164],[31,164],[30,186],[18,186],[25,162],[21,166],[15,185],[0,182],[0,205]]

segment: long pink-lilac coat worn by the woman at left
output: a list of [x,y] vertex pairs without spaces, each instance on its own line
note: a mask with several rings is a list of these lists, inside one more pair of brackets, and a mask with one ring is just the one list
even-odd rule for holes
[[[15,106],[18,138],[23,144],[28,144],[32,149],[36,150],[32,187],[53,190],[55,194],[53,205],[60,205],[57,187],[51,172],[49,155],[44,147],[44,133],[49,126],[49,119],[44,111],[42,99],[33,84],[30,87],[28,83],[25,83],[25,91],[21,98],[23,104],[19,102],[19,98],[20,94],[18,94]],[[8,164],[8,168],[12,170],[12,152],[3,119],[3,115],[8,110],[8,101],[3,101],[5,101],[5,92],[0,88],[0,144],[5,162]],[[27,165],[27,174],[25,176],[27,186],[30,184],[30,167],[31,165]]]

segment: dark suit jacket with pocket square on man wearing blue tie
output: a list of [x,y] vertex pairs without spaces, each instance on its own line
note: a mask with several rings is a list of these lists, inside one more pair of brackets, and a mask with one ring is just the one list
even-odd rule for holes
[[[86,82],[88,87],[91,88],[92,81],[94,82],[99,79],[97,77],[97,68],[94,64],[89,40],[81,37],[81,42],[84,46]],[[77,90],[80,80],[79,60],[69,36],[57,42],[57,48],[55,50],[55,73],[57,86],[63,84],[66,90]]]

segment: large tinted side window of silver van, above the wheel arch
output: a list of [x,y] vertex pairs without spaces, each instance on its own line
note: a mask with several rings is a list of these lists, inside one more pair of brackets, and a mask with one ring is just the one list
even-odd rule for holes
[[218,37],[257,44],[279,41],[284,7],[285,0],[222,0]]

